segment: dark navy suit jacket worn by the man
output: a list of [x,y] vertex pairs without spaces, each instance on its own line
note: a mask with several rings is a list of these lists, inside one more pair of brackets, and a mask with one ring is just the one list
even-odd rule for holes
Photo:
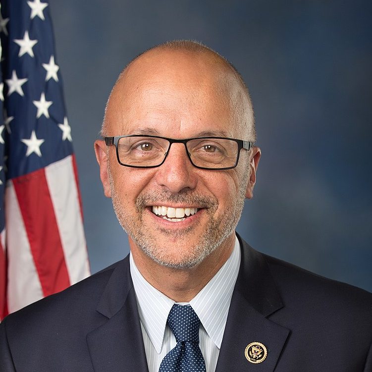
[[[241,245],[216,372],[372,372],[371,293]],[[148,372],[128,257],[4,319],[0,371]]]

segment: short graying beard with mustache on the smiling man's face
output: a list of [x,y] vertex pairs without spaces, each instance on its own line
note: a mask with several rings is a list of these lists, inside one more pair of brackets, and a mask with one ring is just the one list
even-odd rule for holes
[[[247,176],[244,178],[247,178]],[[160,192],[141,194],[135,202],[137,214],[131,216],[125,213],[126,209],[115,191],[110,172],[109,180],[113,209],[122,228],[149,258],[159,265],[169,268],[188,269],[200,265],[206,257],[212,254],[231,236],[238,224],[244,207],[245,187],[240,188],[235,203],[233,203],[229,210],[224,211],[219,219],[213,218],[213,213],[218,207],[218,200],[215,197],[199,196],[195,191],[187,189],[181,190],[177,194],[163,189]],[[246,182],[243,182],[244,184]],[[177,262],[169,260],[166,254],[161,254],[162,248],[158,246],[150,229],[143,225],[142,214],[146,205],[159,203],[159,200],[177,204],[198,205],[205,208],[205,212],[209,215],[206,228],[200,236],[198,243],[194,245],[192,252],[183,258],[180,257],[180,260]],[[194,226],[177,231],[169,231],[160,227],[158,230],[163,236],[180,239],[183,237],[187,238],[194,230]]]

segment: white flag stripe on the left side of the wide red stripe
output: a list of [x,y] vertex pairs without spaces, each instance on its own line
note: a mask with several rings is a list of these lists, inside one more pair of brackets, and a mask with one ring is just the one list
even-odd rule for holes
[[43,290],[12,181],[7,182],[5,200],[6,245],[12,247],[7,250],[7,303],[9,313],[12,313],[43,298]]

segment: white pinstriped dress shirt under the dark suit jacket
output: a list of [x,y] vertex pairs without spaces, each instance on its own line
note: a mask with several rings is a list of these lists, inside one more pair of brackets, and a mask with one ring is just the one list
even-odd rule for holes
[[[214,372],[217,365],[240,259],[240,246],[238,239],[235,238],[235,246],[228,260],[190,301],[191,307],[201,321],[199,346],[207,372]],[[176,346],[174,335],[166,324],[175,302],[146,281],[135,265],[132,254],[130,273],[137,298],[149,372],[159,372],[162,359]]]

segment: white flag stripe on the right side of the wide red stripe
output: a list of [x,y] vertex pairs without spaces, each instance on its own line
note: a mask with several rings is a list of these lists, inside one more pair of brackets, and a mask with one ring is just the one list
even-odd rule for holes
[[70,283],[74,284],[90,273],[72,156],[48,165],[45,175]]

